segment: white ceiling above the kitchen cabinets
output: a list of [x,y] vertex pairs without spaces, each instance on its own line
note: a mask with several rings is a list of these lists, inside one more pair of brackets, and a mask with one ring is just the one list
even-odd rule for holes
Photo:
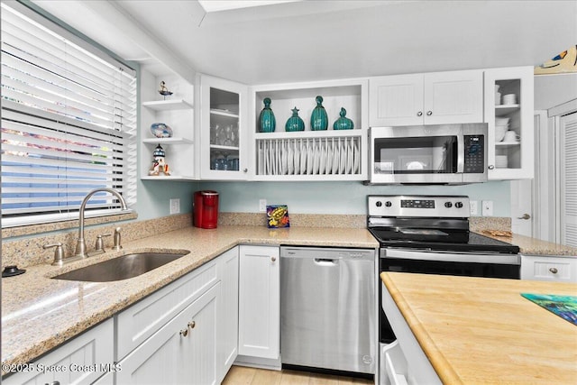
[[577,0],[33,3],[156,75],[251,85],[538,65],[577,43]]

